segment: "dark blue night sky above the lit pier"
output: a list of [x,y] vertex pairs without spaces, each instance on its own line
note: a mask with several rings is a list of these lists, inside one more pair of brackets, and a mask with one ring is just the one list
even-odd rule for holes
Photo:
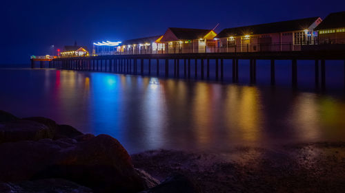
[[94,41],[124,41],[163,34],[167,27],[216,29],[324,18],[345,10],[345,1],[6,1],[1,2],[0,64],[29,63],[50,45],[91,48]]

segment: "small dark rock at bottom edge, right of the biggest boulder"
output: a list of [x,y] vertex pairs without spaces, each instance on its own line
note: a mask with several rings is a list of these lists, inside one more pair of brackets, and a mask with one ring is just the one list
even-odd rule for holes
[[154,188],[145,190],[141,193],[201,193],[201,189],[188,177],[182,174],[174,174]]

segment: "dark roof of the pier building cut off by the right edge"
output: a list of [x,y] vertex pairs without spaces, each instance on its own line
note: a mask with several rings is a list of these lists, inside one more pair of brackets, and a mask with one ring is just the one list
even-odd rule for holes
[[338,27],[345,27],[345,12],[328,14],[324,21],[315,27],[315,30],[334,29]]

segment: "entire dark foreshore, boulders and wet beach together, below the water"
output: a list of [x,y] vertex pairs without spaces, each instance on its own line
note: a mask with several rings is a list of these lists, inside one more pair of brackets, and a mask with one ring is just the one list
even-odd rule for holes
[[0,192],[343,192],[345,143],[128,155],[109,135],[0,111]]

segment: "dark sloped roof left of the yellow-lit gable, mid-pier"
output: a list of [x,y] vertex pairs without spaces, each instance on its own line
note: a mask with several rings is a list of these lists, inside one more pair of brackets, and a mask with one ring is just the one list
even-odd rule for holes
[[195,40],[199,38],[204,38],[206,34],[210,33],[212,30],[202,30],[202,29],[191,29],[191,28],[179,28],[179,27],[169,27],[173,34],[179,40]]

